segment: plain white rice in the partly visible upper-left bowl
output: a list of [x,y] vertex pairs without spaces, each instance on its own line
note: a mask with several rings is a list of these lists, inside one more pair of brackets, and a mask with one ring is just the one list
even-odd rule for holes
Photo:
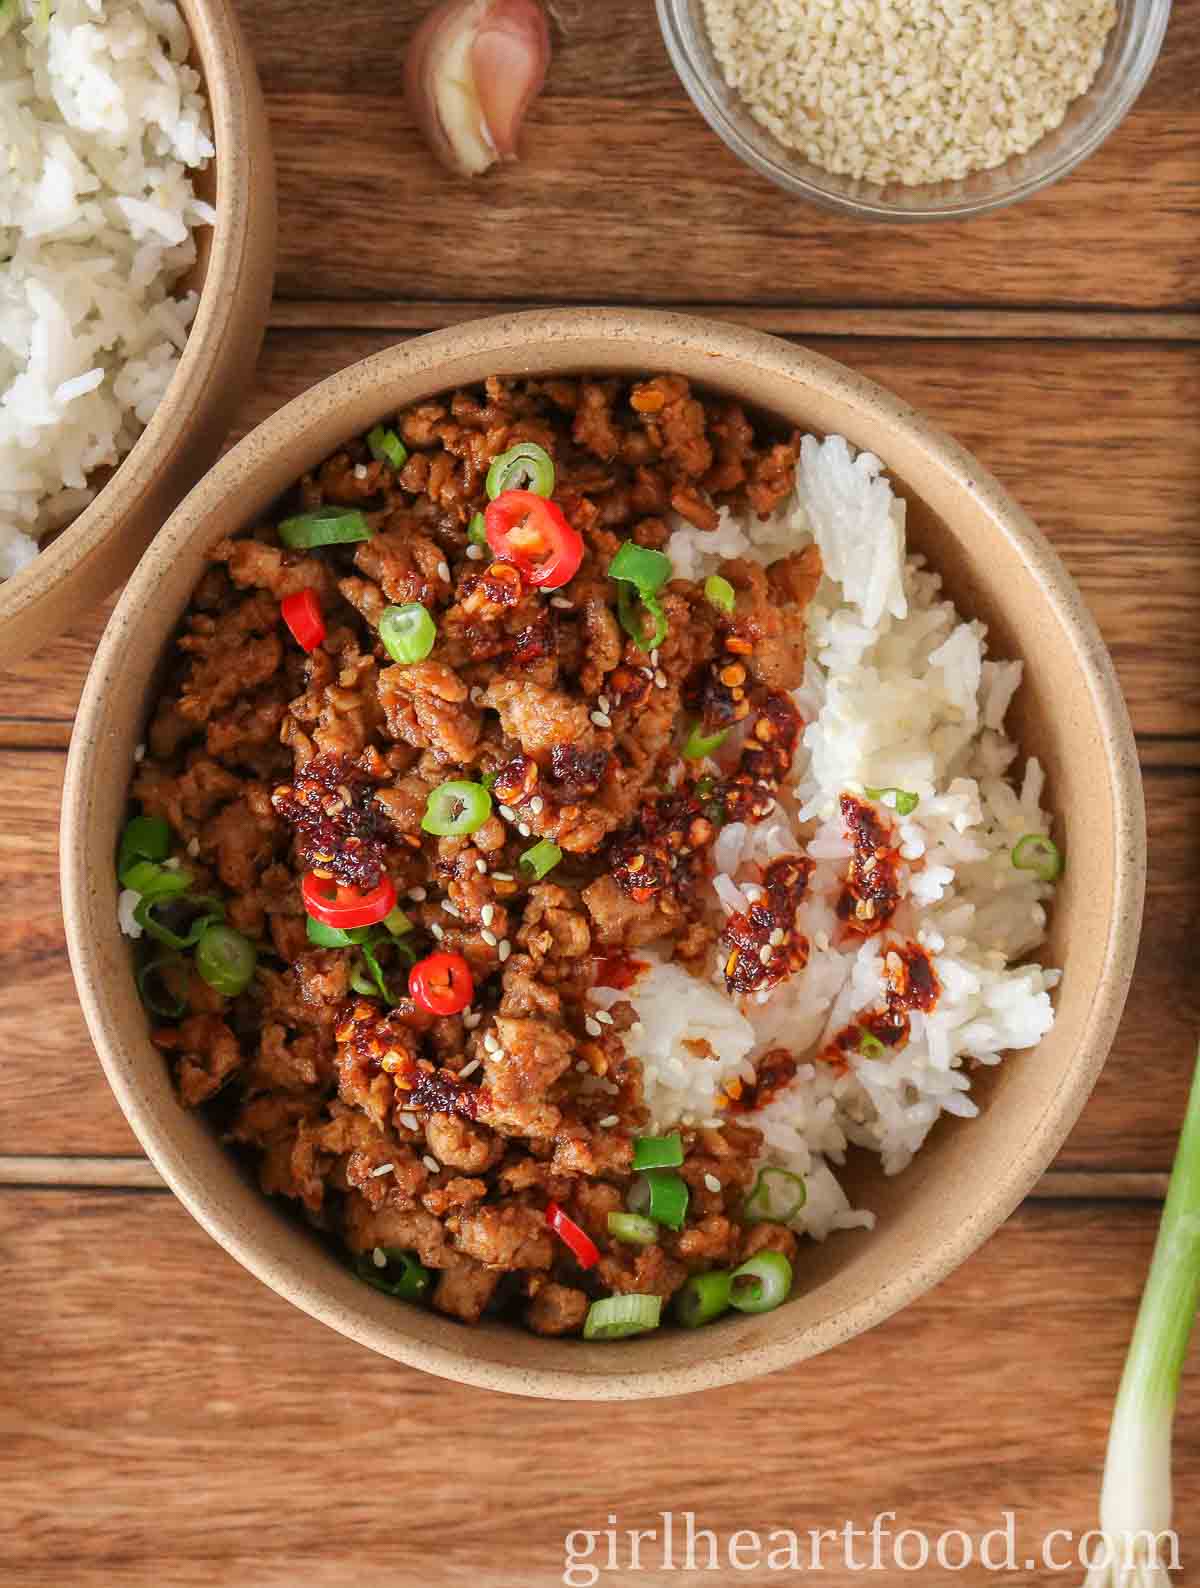
[[0,11],[0,578],[92,499],[165,392],[216,219],[187,27],[170,0]]

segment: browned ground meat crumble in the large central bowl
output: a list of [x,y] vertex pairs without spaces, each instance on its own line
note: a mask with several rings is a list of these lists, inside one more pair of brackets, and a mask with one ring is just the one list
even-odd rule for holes
[[[394,426],[398,467],[356,440],[278,515],[357,508],[370,540],[287,549],[259,526],[214,548],[194,594],[133,800],[170,823],[194,891],[224,902],[259,961],[235,997],[192,973],[186,1013],[154,1040],[183,1100],[254,1156],[263,1191],[349,1253],[411,1253],[435,1274],[433,1307],[468,1323],[503,1313],[578,1334],[600,1296],[668,1297],[692,1274],[795,1255],[784,1226],[740,1218],[760,1142],[737,1110],[683,1131],[683,1228],[649,1245],[610,1235],[648,1112],[624,1042],[633,1007],[597,1016],[587,996],[629,986],[644,943],[711,962],[719,923],[698,883],[721,821],[760,819],[787,773],[802,726],[787,691],[821,576],[813,548],[767,569],[727,562],[729,610],[671,578],[648,651],[608,567],[625,542],[662,551],[668,511],[700,530],[722,505],[771,513],[798,437],[671,375],[494,378]],[[549,453],[552,500],[583,538],[552,592],[468,538],[489,465],[519,441]],[[325,626],[308,654],[281,621],[305,591]],[[378,624],[413,602],[437,640],[394,662]],[[690,729],[743,735],[727,775],[681,757]],[[490,786],[492,810],[468,835],[432,837],[422,816],[448,780]],[[562,851],[543,878],[522,864],[540,840]],[[384,999],[356,948],[310,942],[313,870],[359,889],[390,878],[403,943],[460,954],[470,1007],[443,1016],[400,996],[405,967],[386,953]],[[725,927],[732,992],[803,964],[794,918],[810,870],[776,861],[762,902]],[[548,1226],[548,1204],[595,1243],[592,1266]]]

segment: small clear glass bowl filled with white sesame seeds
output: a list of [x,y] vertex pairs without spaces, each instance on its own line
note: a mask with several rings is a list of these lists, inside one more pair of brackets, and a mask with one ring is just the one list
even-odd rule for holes
[[657,8],[687,94],[754,170],[841,214],[943,221],[1016,203],[1098,149],[1154,67],[1171,0]]

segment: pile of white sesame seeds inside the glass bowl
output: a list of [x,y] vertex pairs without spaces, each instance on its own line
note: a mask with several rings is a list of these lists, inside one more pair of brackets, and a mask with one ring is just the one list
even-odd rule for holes
[[886,186],[1024,154],[1100,68],[1114,0],[703,0],[725,81],[779,143]]

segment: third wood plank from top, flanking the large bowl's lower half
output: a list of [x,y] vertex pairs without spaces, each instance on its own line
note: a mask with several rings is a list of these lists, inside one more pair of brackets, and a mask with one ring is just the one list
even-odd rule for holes
[[[67,962],[57,891],[62,756],[0,753],[10,819],[0,877],[0,1153],[135,1154],[92,1053]],[[1146,778],[1151,878],[1133,992],[1113,1056],[1059,1167],[1156,1174],[1170,1166],[1200,1029],[1200,770]],[[54,1026],[48,1034],[46,1012]]]

